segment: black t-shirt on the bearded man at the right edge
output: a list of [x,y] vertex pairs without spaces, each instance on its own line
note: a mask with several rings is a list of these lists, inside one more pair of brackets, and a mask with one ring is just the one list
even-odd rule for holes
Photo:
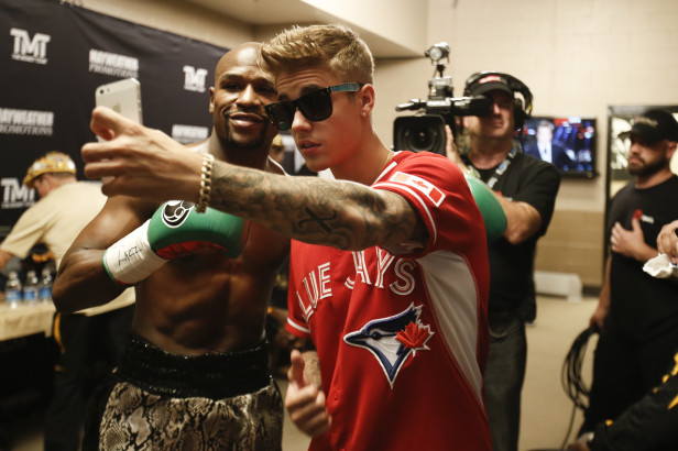
[[[664,224],[678,219],[678,177],[652,188],[637,189],[634,183],[612,199],[606,238],[619,222],[632,230],[631,219],[641,219],[645,243],[657,246]],[[610,314],[606,327],[634,341],[645,341],[678,327],[678,280],[660,279],[643,271],[644,262],[611,254]]]

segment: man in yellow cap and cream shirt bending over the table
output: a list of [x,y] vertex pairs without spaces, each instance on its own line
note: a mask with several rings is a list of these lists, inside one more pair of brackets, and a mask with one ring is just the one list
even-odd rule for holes
[[[54,254],[58,267],[70,243],[99,212],[107,198],[98,184],[78,182],[75,164],[61,152],[50,152],[37,158],[23,183],[37,191],[40,200],[24,211],[0,244],[0,270],[13,256],[25,258],[39,243]],[[59,355],[45,415],[45,450],[78,449],[89,345],[106,343],[112,367],[124,345],[133,304],[133,290],[128,289],[106,306],[76,314],[55,314],[53,338]]]

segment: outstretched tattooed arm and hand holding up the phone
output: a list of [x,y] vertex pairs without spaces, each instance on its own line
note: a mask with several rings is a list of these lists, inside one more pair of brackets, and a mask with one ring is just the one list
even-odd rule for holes
[[[97,108],[92,130],[111,141],[83,147],[89,178],[113,176],[108,196],[197,201],[203,157],[166,134]],[[350,182],[285,177],[215,162],[210,206],[281,234],[341,250],[424,243],[426,230],[401,196]]]

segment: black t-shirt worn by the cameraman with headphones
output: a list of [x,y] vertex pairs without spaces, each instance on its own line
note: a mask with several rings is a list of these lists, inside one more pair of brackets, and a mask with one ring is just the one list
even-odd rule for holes
[[[468,163],[468,162],[467,162]],[[502,163],[504,164],[504,163]],[[500,165],[501,166],[501,165]],[[495,168],[478,169],[483,182],[495,174]],[[534,287],[534,258],[537,240],[548,228],[554,215],[560,174],[550,163],[545,163],[517,152],[493,190],[507,199],[523,201],[534,207],[542,217],[542,230],[521,244],[511,244],[504,238],[488,243],[490,255],[489,311],[517,312],[532,321],[536,316]]]

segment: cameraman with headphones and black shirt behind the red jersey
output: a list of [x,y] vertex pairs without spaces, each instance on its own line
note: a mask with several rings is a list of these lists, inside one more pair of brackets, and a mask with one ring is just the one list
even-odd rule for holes
[[[525,109],[516,94],[525,100]],[[446,127],[446,152],[461,170],[475,175],[494,191],[506,216],[503,237],[488,243],[491,342],[484,385],[492,449],[512,451],[518,443],[527,354],[525,322],[536,316],[535,249],[551,219],[560,175],[554,165],[523,153],[513,140],[532,109],[529,89],[507,74],[478,73],[467,80],[464,96],[480,95],[493,105],[488,116],[462,118],[470,148],[459,153]]]

